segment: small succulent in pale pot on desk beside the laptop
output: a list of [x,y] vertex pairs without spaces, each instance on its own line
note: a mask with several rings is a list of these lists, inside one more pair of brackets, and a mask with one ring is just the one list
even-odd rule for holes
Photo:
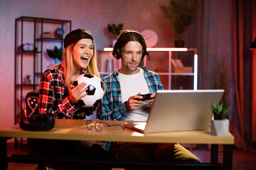
[[211,106],[213,112],[213,120],[211,127],[211,134],[216,136],[227,136],[229,132],[229,120],[228,111],[230,108],[223,107],[223,103],[216,105],[215,103]]

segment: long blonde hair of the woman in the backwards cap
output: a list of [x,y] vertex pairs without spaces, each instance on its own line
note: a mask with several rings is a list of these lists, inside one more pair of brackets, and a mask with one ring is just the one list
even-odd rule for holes
[[[63,67],[64,67],[64,77],[65,77],[65,87],[69,87],[72,84],[72,73],[73,73],[73,50],[75,45],[78,42],[75,42],[68,47],[65,47],[63,51]],[[93,44],[93,55],[92,58],[86,68],[86,72],[90,74],[94,74],[95,76],[100,78],[100,73],[97,67],[97,55],[96,55],[96,48],[95,42],[92,40]]]

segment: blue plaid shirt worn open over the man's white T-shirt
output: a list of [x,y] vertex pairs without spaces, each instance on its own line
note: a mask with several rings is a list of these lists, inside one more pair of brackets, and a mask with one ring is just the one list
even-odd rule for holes
[[[144,77],[150,93],[155,94],[156,90],[163,89],[158,74],[147,70],[146,67],[142,67],[142,69],[144,69]],[[116,69],[112,74],[102,79],[106,84],[107,91],[99,107],[100,120],[125,120],[129,114],[129,111],[124,107],[124,103],[122,103],[118,74]],[[111,153],[115,145],[116,142],[105,142],[104,148]]]

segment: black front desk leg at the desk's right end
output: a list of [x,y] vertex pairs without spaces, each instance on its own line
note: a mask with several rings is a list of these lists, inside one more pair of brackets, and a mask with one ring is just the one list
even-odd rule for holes
[[223,145],[223,169],[232,170],[233,145]]

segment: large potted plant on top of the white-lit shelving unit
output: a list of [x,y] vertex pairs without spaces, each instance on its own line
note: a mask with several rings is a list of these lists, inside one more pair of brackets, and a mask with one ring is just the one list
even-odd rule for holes
[[178,35],[178,40],[174,41],[175,47],[184,46],[185,42],[181,40],[181,34],[195,21],[198,7],[196,6],[196,0],[193,1],[191,6],[188,6],[186,0],[170,0],[169,6],[160,5],[161,11],[169,19],[171,26]]

